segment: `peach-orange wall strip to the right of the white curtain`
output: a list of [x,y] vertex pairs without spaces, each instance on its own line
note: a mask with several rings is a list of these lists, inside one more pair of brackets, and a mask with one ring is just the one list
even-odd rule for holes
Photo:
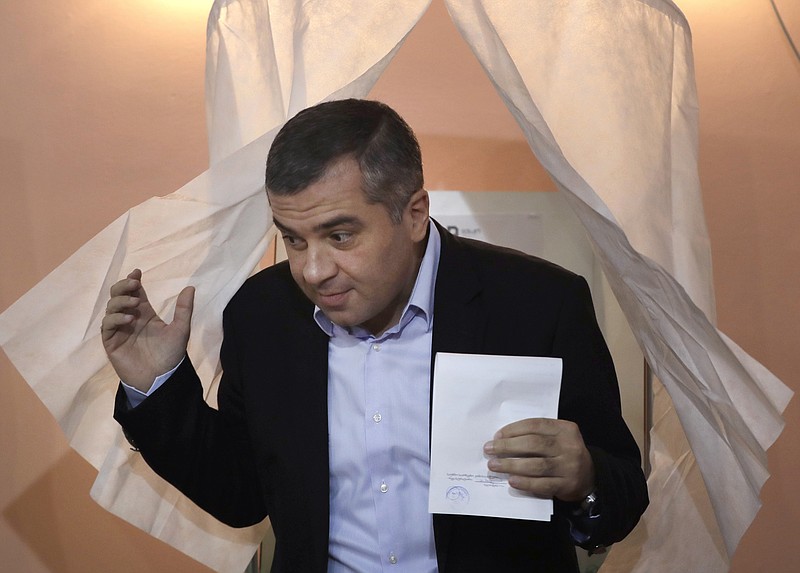
[[[700,176],[720,328],[800,392],[800,62],[768,1],[683,0],[694,32]],[[775,0],[800,46],[800,2]],[[733,573],[798,570],[800,399],[769,451],[764,507]]]

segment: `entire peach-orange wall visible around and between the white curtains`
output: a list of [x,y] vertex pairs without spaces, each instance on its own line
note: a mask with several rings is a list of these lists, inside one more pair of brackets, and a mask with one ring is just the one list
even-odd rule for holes
[[[800,5],[776,2],[800,41]],[[0,308],[127,208],[203,171],[209,4],[0,5]],[[800,63],[766,0],[679,4],[695,37],[719,322],[800,390]],[[552,189],[438,0],[373,95],[418,129],[430,188]],[[4,355],[0,380],[0,568],[205,570],[97,507],[88,495],[93,468]],[[786,419],[770,451],[765,507],[734,572],[796,565],[797,400]]]

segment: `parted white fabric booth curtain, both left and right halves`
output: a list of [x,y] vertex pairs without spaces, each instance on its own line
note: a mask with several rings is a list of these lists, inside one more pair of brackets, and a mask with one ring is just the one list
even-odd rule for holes
[[[791,392],[714,327],[686,20],[668,0],[445,3],[585,226],[663,382],[651,506],[603,570],[726,571]],[[169,315],[182,286],[197,286],[189,352],[213,400],[222,309],[274,234],[263,168],[275,132],[319,101],[365,96],[428,4],[218,0],[211,168],[131,209],[0,315],[0,344],[99,469],[95,499],[216,570],[242,571],[268,524],[222,526],[129,451],[99,340],[108,287],[140,267]]]

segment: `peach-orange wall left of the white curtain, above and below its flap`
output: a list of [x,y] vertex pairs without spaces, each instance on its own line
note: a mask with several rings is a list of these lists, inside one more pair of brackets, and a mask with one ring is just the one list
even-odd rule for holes
[[[209,5],[0,3],[0,308],[126,209],[206,168]],[[90,499],[94,468],[2,353],[0,380],[0,570],[203,570]]]

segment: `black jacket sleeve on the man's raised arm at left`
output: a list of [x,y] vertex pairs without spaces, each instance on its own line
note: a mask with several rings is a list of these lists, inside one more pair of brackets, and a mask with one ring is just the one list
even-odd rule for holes
[[187,357],[135,408],[120,385],[114,418],[158,475],[223,523],[244,527],[260,522],[267,510],[246,431],[236,360],[231,359],[234,344],[227,334],[225,340],[220,410],[206,404]]

